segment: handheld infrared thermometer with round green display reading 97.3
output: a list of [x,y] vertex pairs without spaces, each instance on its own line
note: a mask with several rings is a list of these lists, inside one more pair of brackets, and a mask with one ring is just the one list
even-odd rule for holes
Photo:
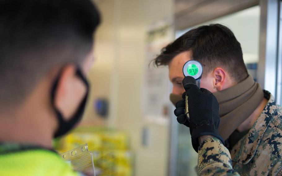
[[[183,66],[183,75],[185,77],[192,77],[194,79],[185,79],[185,80],[191,80],[191,84],[195,84],[200,88],[201,83],[201,77],[203,74],[203,66],[202,64],[197,60],[189,60],[187,61]],[[185,96],[185,114],[187,116],[187,120],[190,121],[189,118],[189,110],[188,110],[188,95]]]

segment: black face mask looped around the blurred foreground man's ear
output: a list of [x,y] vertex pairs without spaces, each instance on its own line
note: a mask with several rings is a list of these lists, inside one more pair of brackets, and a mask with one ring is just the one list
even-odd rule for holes
[[81,104],[79,105],[79,107],[77,108],[77,111],[74,113],[73,117],[69,120],[69,121],[65,121],[66,118],[63,117],[62,113],[59,112],[59,110],[55,107],[55,92],[58,86],[58,81],[60,76],[56,79],[52,92],[51,92],[51,99],[52,99],[52,105],[53,108],[56,112],[57,115],[57,119],[59,122],[59,128],[57,130],[57,132],[55,133],[55,138],[62,136],[64,134],[66,134],[68,131],[70,131],[71,129],[73,129],[73,127],[81,120],[83,112],[84,112],[84,108],[86,105],[86,100],[88,97],[88,92],[89,92],[89,83],[86,80],[86,78],[83,76],[81,70],[79,68],[77,68],[77,76],[80,77],[80,79],[85,83],[86,86],[86,94],[85,97],[83,98]]

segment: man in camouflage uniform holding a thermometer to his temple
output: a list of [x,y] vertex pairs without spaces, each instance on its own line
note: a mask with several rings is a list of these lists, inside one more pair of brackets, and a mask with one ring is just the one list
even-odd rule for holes
[[[207,131],[202,129],[198,134],[193,134],[198,129],[191,127],[193,118],[190,114],[192,113],[190,103],[192,102],[192,106],[201,98],[188,99],[190,121],[187,121],[187,118],[183,116],[183,102],[180,103],[181,105],[178,103],[178,106],[176,106],[177,120],[190,128],[192,145],[196,152],[199,153],[198,174],[281,175],[282,116],[281,107],[276,104],[274,97],[268,91],[261,90],[259,85],[254,82],[254,84],[258,85],[257,89],[249,96],[246,96],[247,98],[239,94],[237,97],[233,97],[234,99],[246,99],[244,101],[249,101],[245,108],[240,108],[240,105],[244,105],[245,102],[237,104],[237,112],[230,113],[232,116],[228,117],[229,119],[225,118],[229,112],[221,114],[226,108],[222,106],[224,102],[220,100],[224,99],[221,92],[231,89],[236,94],[236,89],[239,90],[240,86],[244,87],[242,82],[251,80],[243,61],[240,43],[236,40],[234,34],[230,29],[220,24],[200,26],[183,34],[183,36],[162,49],[161,54],[155,59],[155,64],[169,66],[169,76],[173,83],[172,93],[174,94],[171,95],[171,101],[174,104],[177,102],[173,99],[175,95],[178,95],[178,100],[182,99],[179,98],[185,91],[182,84],[184,78],[182,67],[185,62],[191,59],[198,60],[203,64],[204,73],[201,87],[212,92],[218,99],[220,125],[223,124],[222,126],[219,125],[218,128],[218,124],[211,120],[210,124],[214,123],[216,127],[216,129],[214,127],[212,130],[213,132],[209,131],[209,134],[206,135]],[[260,93],[256,94],[255,92]],[[255,100],[252,97],[260,97],[260,99]],[[230,100],[230,104],[234,104],[234,99]],[[204,102],[202,103],[204,104]],[[251,112],[248,108],[251,109]],[[195,111],[195,119],[202,117],[197,113],[203,111]],[[242,120],[241,117],[244,115],[247,115],[247,117]],[[236,121],[237,118],[241,119],[238,120],[239,124]],[[232,123],[229,123],[229,121]],[[197,125],[196,122],[194,126],[195,124]],[[210,124],[208,123],[208,125]],[[219,137],[215,134],[217,129],[220,134]],[[231,133],[230,129],[232,130]],[[196,139],[199,142],[195,143]]]

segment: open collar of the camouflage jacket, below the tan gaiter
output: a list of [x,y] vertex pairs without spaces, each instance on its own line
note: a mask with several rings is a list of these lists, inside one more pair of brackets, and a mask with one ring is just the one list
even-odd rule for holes
[[272,118],[277,112],[278,106],[275,102],[274,97],[264,90],[265,97],[270,97],[267,105],[263,109],[261,115],[254,123],[253,127],[249,130],[249,133],[240,140],[240,149],[237,151],[232,161],[239,162],[240,164],[248,164],[253,158],[259,143],[262,139],[263,134],[267,130]]

